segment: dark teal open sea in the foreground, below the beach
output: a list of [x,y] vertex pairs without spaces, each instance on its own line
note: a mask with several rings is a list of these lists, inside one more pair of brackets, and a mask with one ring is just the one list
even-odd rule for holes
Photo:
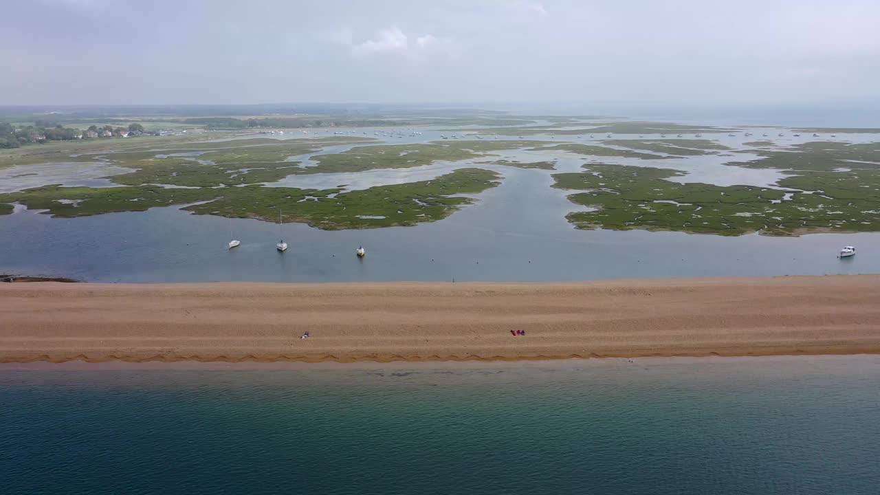
[[0,492],[877,493],[880,358],[0,368]]

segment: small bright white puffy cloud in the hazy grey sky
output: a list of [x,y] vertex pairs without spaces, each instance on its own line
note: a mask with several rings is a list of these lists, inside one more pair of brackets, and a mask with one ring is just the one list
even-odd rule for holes
[[415,36],[414,42],[399,27],[383,29],[377,37],[361,43],[351,43],[351,55],[356,58],[393,55],[411,61],[423,61],[433,55],[455,58],[458,55],[458,44],[450,38],[438,37],[433,34]]

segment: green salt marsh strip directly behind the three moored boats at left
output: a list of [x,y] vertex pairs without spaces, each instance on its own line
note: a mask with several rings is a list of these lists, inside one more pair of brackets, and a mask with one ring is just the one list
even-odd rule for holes
[[[46,186],[0,194],[0,204],[20,202],[56,217],[85,217],[119,211],[145,211],[158,206],[199,203],[188,211],[203,215],[275,221],[278,208],[285,222],[304,222],[325,229],[415,225],[449,216],[473,203],[460,194],[475,194],[499,184],[498,175],[461,168],[433,181],[378,186],[341,192],[333,189],[266,188],[62,188]],[[331,197],[332,195],[336,195]],[[0,214],[11,213],[3,204]],[[360,218],[382,217],[382,218]]]

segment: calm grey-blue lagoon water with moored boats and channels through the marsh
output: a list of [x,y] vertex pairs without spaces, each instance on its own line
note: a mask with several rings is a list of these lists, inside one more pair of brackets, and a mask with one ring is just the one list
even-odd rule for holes
[[[789,129],[767,132],[787,145],[810,141]],[[783,132],[786,137],[776,137]],[[369,133],[369,137],[372,132]],[[434,140],[440,130],[393,143]],[[446,132],[446,134],[451,134]],[[460,134],[460,132],[459,132]],[[284,135],[285,138],[301,137]],[[618,135],[620,138],[637,136]],[[646,136],[658,137],[658,136]],[[686,136],[693,137],[693,136]],[[719,185],[768,186],[784,174],[777,170],[722,165],[755,158],[745,140],[761,137],[707,135],[737,148],[730,156],[705,155],[684,159],[640,160],[599,158],[608,163],[661,166],[686,172],[676,181]],[[508,137],[511,138],[511,137]],[[516,137],[512,137],[516,138]],[[562,140],[598,141],[583,137],[539,137],[548,145]],[[865,142],[876,135],[839,135],[838,140]],[[339,152],[351,145],[322,152]],[[743,151],[745,150],[745,151]],[[439,222],[414,227],[325,232],[302,224],[283,226],[290,248],[275,252],[278,227],[253,219],[195,216],[178,207],[84,218],[49,218],[19,207],[0,217],[0,273],[74,277],[105,282],[349,282],[349,281],[566,281],[605,278],[824,275],[880,272],[880,233],[813,234],[774,238],[757,234],[736,238],[643,231],[576,231],[565,215],[583,207],[566,198],[571,191],[554,189],[551,174],[583,170],[596,158],[563,151],[502,151],[498,158],[520,161],[554,160],[556,171],[524,170],[468,161],[439,162],[407,169],[380,169],[357,174],[292,175],[273,183],[300,188],[370,188],[382,184],[425,181],[456,168],[482,166],[502,174],[502,184],[475,196],[466,206]],[[306,164],[312,155],[297,157]],[[486,159],[473,160],[475,162]],[[74,168],[79,167],[76,170]],[[118,167],[110,167],[118,168]],[[26,170],[38,175],[14,178]],[[54,169],[27,166],[0,171],[0,190],[64,182],[98,182],[118,171],[106,166],[70,164]],[[5,174],[5,175],[3,175]],[[65,175],[67,174],[67,175]],[[66,179],[65,179],[66,177]],[[227,250],[230,224],[242,244]],[[358,260],[362,245],[367,257]],[[840,247],[854,245],[859,255],[837,259]]]

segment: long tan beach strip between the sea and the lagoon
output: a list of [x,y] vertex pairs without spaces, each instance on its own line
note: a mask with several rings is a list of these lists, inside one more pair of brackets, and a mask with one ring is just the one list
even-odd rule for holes
[[[0,314],[0,362],[880,353],[880,275],[0,284]],[[525,335],[512,336],[517,329]]]

